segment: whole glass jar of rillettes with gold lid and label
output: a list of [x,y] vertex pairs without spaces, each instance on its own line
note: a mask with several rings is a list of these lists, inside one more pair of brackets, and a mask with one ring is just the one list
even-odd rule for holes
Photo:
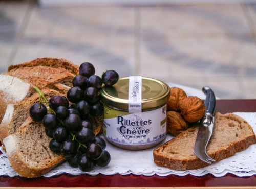
[[[148,77],[124,77],[113,86],[102,87],[100,95],[104,106],[103,133],[113,145],[142,150],[165,138],[170,95],[166,83]],[[131,97],[137,99],[135,104]]]

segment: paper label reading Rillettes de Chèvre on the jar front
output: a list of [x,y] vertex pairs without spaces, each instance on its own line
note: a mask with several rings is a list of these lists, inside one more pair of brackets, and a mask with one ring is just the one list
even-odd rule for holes
[[104,135],[121,145],[158,143],[166,136],[166,120],[166,105],[138,113],[104,106]]

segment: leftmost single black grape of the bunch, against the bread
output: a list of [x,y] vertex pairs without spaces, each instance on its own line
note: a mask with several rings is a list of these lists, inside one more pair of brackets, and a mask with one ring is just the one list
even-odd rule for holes
[[47,108],[44,104],[41,103],[35,103],[29,109],[29,115],[35,122],[41,122],[46,114]]

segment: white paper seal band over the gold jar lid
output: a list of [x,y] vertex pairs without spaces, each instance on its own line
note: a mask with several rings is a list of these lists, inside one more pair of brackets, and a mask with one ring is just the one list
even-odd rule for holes
[[129,77],[128,111],[131,113],[141,112],[141,76]]

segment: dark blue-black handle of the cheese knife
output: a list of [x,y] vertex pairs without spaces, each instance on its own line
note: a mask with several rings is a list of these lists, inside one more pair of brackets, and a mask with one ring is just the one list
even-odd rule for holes
[[204,105],[206,108],[205,113],[214,114],[216,104],[214,91],[212,91],[211,88],[207,86],[204,86],[202,90],[206,95],[206,99],[204,101]]

